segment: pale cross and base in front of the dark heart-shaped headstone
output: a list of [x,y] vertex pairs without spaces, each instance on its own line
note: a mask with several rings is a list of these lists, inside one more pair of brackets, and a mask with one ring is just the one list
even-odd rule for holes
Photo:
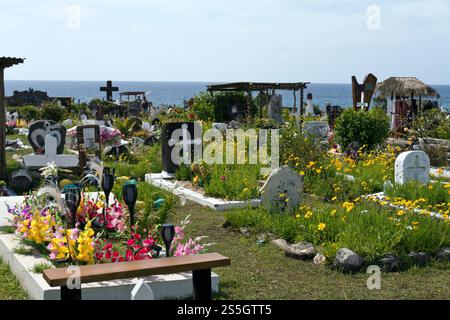
[[23,157],[27,168],[41,168],[47,163],[54,162],[60,168],[73,168],[78,166],[78,156],[57,154],[58,140],[55,136],[45,136],[45,154],[30,154]]

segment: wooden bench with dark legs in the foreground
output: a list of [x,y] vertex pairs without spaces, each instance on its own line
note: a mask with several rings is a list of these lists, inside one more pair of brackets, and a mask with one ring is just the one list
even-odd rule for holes
[[[196,256],[94,264],[80,266],[79,278],[80,283],[90,283],[192,271],[194,299],[211,300],[211,268],[229,266],[230,263],[230,258],[218,253],[207,253]],[[67,268],[47,269],[44,270],[43,276],[50,287],[61,287],[61,300],[81,300],[81,288],[67,287],[68,280],[71,281],[74,277]]]

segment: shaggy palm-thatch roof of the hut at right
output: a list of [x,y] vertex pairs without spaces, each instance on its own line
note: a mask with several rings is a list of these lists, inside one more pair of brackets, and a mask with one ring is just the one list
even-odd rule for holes
[[439,98],[439,93],[416,77],[391,77],[377,85],[376,91],[382,98],[396,96],[428,96]]

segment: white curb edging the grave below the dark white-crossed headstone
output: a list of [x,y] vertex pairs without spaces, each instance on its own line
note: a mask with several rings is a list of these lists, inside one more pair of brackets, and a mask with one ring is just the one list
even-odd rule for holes
[[202,206],[209,207],[217,211],[225,211],[241,208],[257,208],[261,204],[260,199],[246,200],[246,201],[226,201],[218,198],[206,197],[197,191],[190,190],[185,187],[176,186],[175,182],[167,179],[162,179],[161,174],[147,173],[145,175],[145,182],[155,187],[172,192],[177,196],[184,196],[187,200],[191,200]]

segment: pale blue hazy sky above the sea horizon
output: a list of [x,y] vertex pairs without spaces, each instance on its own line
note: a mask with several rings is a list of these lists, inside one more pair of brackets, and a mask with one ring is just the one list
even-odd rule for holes
[[0,56],[22,80],[450,84],[449,20],[448,0],[0,0]]

